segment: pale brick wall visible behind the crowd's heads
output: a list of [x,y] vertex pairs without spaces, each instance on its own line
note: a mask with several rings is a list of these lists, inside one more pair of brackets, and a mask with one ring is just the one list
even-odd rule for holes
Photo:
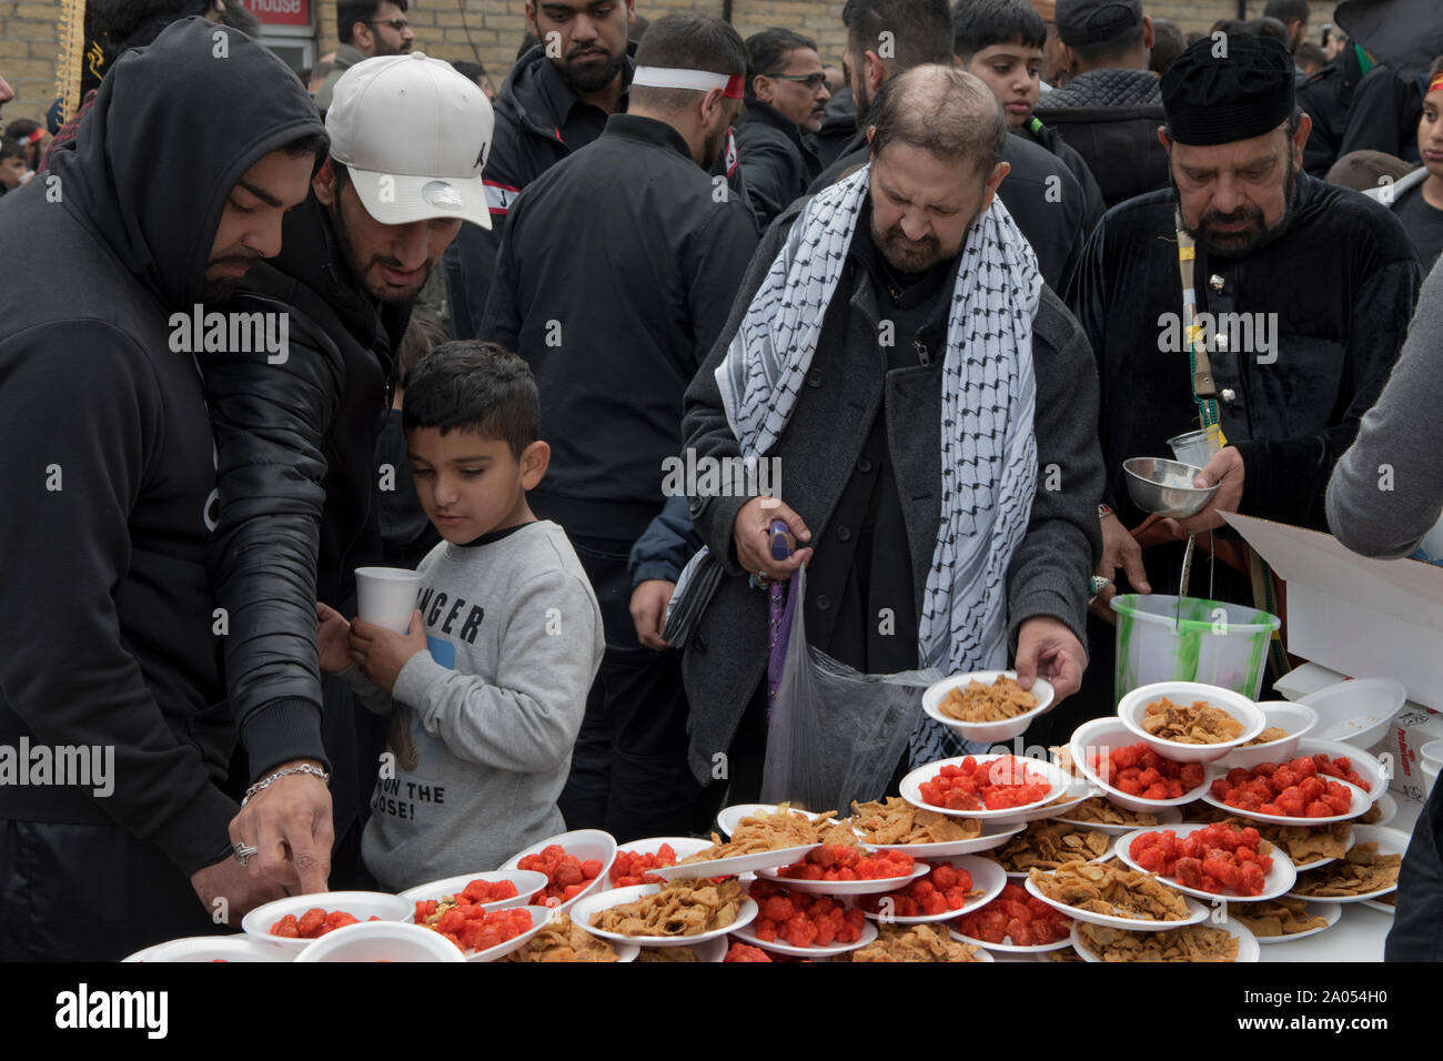
[[[840,64],[846,45],[843,0],[733,0],[732,25],[745,38],[769,26],[785,26],[817,40],[825,62]],[[1251,9],[1261,12],[1261,0]],[[720,16],[723,0],[642,0],[648,19],[671,12]],[[1216,19],[1237,16],[1237,0],[1146,0],[1149,14],[1167,17],[1183,30],[1205,30]],[[0,0],[0,77],[16,100],[4,120],[43,118],[55,98],[55,58],[59,52],[58,0]],[[442,59],[479,58],[494,84],[511,68],[525,35],[525,0],[414,0],[407,12],[416,46]],[[316,53],[336,46],[335,0],[317,7]]]

